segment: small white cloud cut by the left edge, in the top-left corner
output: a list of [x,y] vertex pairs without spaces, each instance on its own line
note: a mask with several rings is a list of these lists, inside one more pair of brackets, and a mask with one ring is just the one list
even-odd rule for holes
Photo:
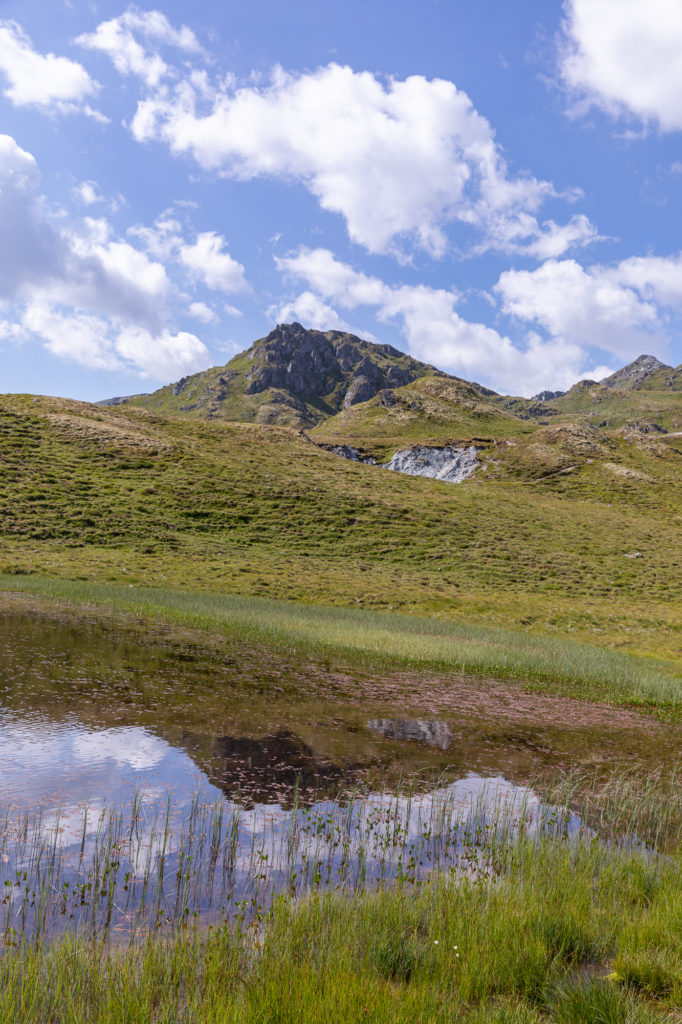
[[57,114],[80,111],[102,120],[86,103],[99,85],[85,68],[54,53],[38,53],[15,22],[0,22],[0,71],[8,82],[5,96],[14,106]]

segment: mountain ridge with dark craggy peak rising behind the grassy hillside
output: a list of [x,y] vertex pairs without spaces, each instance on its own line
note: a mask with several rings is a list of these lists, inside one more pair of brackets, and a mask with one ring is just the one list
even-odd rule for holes
[[681,367],[643,354],[599,383],[579,381],[566,392],[532,398],[500,395],[391,345],[294,323],[278,325],[223,367],[99,404],[293,427],[317,444],[350,446],[385,462],[406,444],[529,436],[552,423],[637,436],[674,433],[682,430],[681,391]]

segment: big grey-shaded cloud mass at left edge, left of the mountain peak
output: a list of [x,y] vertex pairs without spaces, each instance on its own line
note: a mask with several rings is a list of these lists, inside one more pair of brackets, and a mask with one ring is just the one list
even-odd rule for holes
[[39,337],[94,370],[169,380],[211,365],[193,334],[164,324],[165,266],[113,234],[103,218],[52,222],[35,159],[0,135],[0,303],[19,310],[2,335]]

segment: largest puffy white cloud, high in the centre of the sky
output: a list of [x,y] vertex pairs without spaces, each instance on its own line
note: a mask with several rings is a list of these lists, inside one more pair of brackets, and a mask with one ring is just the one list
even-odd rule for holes
[[397,252],[409,240],[441,256],[453,221],[479,249],[527,251],[547,234],[554,250],[594,239],[586,218],[570,228],[539,224],[536,213],[556,189],[511,175],[489,123],[442,79],[384,83],[330,65],[214,89],[195,76],[142,99],[131,130],[226,176],[302,183],[371,252]]

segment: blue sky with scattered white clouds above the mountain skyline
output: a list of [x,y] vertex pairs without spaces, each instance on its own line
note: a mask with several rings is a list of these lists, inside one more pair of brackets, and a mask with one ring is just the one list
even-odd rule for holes
[[679,0],[0,0],[0,391],[352,331],[498,391],[682,361]]

